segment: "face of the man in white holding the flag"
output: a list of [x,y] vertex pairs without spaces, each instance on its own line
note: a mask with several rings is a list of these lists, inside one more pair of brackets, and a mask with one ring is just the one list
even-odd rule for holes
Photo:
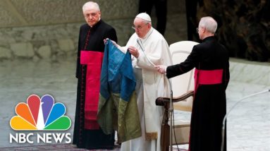
[[151,29],[151,24],[145,23],[145,20],[142,20],[141,18],[135,18],[133,24],[133,29],[135,29],[137,36],[140,38],[145,37],[147,32]]

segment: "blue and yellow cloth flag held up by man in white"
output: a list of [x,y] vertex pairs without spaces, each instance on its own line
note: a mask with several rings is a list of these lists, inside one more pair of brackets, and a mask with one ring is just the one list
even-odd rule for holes
[[118,143],[140,137],[136,80],[130,53],[121,52],[111,40],[105,44],[100,82],[97,121],[104,133],[117,131]]

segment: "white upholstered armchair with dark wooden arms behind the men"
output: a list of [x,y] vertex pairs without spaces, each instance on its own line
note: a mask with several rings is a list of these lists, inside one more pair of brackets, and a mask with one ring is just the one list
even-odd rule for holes
[[[176,42],[170,45],[171,55],[173,59],[173,64],[179,64],[180,62],[185,61],[187,56],[192,51],[194,45],[198,44],[197,42],[192,41],[181,41]],[[180,76],[171,78],[171,87],[173,90],[173,109],[180,111],[192,111],[192,100],[193,100],[193,90],[194,90],[194,69]],[[178,97],[180,96],[180,97]],[[156,100],[157,105],[164,106],[165,112],[161,126],[161,146],[162,150],[166,151],[169,147],[169,107],[170,107],[170,98],[168,97],[159,97]],[[175,118],[174,121],[174,130],[176,132],[176,139],[173,135],[172,144],[178,145],[188,144],[189,135],[190,135],[190,121],[183,121],[179,118]]]

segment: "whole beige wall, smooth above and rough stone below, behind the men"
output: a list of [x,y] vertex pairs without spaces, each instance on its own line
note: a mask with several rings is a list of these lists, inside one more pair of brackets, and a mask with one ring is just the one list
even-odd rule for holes
[[[0,60],[57,59],[62,56],[75,56],[78,30],[80,25],[85,23],[82,5],[86,0],[0,1]],[[168,0],[168,23],[165,34],[168,43],[185,37],[185,34],[179,35],[176,32],[181,28],[181,25],[176,23],[185,20],[183,2],[183,0]],[[138,1],[99,0],[97,3],[102,11],[102,19],[116,28],[118,43],[125,44],[134,32],[131,25],[137,14]],[[155,18],[152,19],[155,23]]]

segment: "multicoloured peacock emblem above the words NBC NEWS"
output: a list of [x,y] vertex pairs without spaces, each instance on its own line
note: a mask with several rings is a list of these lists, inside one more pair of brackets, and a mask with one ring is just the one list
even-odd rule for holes
[[27,103],[17,104],[15,111],[17,116],[11,118],[10,125],[16,131],[66,131],[71,126],[65,105],[54,104],[51,95],[30,95]]

